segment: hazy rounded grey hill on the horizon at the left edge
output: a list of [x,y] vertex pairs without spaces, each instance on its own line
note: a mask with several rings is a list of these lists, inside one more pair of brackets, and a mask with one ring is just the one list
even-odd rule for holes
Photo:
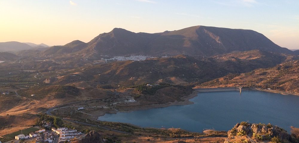
[[32,49],[32,47],[25,43],[20,43],[20,42],[16,42],[16,41],[0,42],[0,51],[2,51],[2,52],[20,51],[20,50],[28,50],[28,49]]

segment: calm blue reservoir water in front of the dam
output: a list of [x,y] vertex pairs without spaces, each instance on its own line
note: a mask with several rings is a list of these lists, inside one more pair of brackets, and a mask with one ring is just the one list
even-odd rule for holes
[[174,105],[117,114],[98,120],[125,122],[141,127],[230,130],[237,122],[271,123],[289,132],[299,127],[299,96],[263,91],[201,92],[191,105]]

